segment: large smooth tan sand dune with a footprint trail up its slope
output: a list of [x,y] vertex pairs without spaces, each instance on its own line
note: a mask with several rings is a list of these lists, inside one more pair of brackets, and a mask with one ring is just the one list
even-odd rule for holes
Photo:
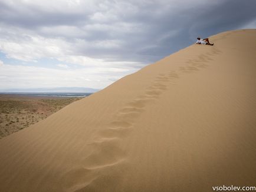
[[0,191],[255,186],[256,29],[209,37],[0,140]]

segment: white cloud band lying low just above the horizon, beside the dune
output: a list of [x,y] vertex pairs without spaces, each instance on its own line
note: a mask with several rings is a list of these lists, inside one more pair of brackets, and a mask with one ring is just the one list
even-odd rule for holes
[[93,87],[104,88],[135,69],[81,68],[50,69],[21,65],[4,65],[0,70],[0,91],[8,88]]

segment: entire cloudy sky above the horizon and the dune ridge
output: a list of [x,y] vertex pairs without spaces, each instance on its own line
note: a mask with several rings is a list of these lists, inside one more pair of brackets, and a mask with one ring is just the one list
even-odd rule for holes
[[256,28],[255,0],[0,0],[0,91],[102,89],[196,37]]

